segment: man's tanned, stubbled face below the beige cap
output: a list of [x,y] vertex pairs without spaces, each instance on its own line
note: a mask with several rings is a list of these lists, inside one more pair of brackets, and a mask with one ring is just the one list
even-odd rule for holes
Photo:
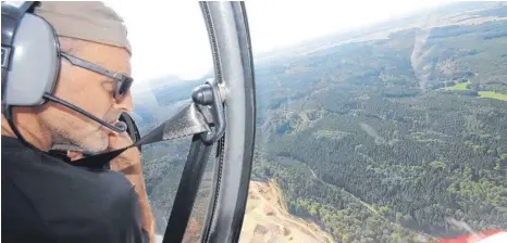
[[[125,49],[78,41],[72,55],[112,72],[131,75],[131,62]],[[65,47],[62,42],[62,47]],[[54,95],[110,123],[118,122],[122,112],[133,110],[132,97],[116,101],[113,98],[115,80],[104,75],[72,65],[62,57],[60,78]],[[48,128],[53,143],[74,144],[90,152],[108,149],[108,136],[113,132],[86,116],[49,102],[39,112],[40,123]]]

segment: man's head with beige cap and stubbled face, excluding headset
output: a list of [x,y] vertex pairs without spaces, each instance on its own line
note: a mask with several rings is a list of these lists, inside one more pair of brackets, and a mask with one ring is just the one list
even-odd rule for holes
[[[100,2],[41,2],[35,9],[35,14],[54,27],[61,52],[110,72],[131,75],[131,48],[126,28],[123,20],[110,8]],[[110,124],[114,124],[122,112],[133,110],[129,92],[123,99],[114,98],[114,86],[118,85],[115,79],[73,65],[65,57],[60,61],[54,97]],[[101,152],[108,148],[108,135],[113,132],[53,102],[24,111],[36,117],[36,127],[40,130],[30,132],[49,136],[51,144],[72,144],[84,151]]]

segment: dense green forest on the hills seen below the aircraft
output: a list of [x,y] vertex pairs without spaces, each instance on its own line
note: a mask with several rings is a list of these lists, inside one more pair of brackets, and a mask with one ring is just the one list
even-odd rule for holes
[[[507,7],[437,13],[435,26],[407,18],[386,38],[256,66],[252,177],[273,179],[292,214],[337,242],[468,233],[456,221],[507,229]],[[171,89],[160,92],[174,102]],[[144,152],[158,210],[171,208],[188,144]]]

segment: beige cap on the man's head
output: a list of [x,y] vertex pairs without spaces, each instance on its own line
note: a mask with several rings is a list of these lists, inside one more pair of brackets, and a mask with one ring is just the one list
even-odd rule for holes
[[99,1],[41,1],[34,13],[48,21],[58,36],[125,48],[132,54],[123,18]]

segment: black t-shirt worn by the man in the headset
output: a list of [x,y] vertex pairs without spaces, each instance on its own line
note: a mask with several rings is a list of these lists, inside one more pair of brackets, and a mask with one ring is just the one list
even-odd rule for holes
[[132,183],[2,136],[2,242],[148,242]]

